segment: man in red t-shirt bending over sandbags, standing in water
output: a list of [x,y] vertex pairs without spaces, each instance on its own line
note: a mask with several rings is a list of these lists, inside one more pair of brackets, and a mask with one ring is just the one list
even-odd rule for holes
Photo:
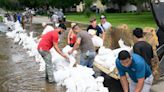
[[61,52],[61,50],[58,47],[58,34],[62,33],[64,28],[62,26],[59,26],[58,28],[55,28],[53,31],[50,31],[42,36],[42,39],[40,40],[38,44],[38,51],[40,55],[43,57],[46,67],[45,67],[45,73],[46,73],[46,79],[48,79],[49,83],[54,83],[54,75],[53,75],[53,64],[51,61],[51,53],[50,49],[52,47],[55,48],[55,50],[64,58],[68,59],[68,56]]

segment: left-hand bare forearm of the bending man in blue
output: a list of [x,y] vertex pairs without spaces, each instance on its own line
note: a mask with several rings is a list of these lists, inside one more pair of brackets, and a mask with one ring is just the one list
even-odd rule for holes
[[121,85],[124,90],[124,92],[128,92],[129,90],[129,84],[126,75],[120,77]]

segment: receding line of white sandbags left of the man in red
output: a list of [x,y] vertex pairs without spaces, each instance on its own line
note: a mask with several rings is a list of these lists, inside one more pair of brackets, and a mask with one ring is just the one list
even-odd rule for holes
[[14,29],[11,32],[6,32],[8,38],[12,38],[15,43],[22,45],[27,50],[29,56],[35,56],[36,60],[38,60],[37,58],[41,59],[37,50],[37,39],[33,37],[33,32],[30,32],[30,36],[28,36],[18,21],[5,21],[5,24],[10,27],[12,25],[11,29]]

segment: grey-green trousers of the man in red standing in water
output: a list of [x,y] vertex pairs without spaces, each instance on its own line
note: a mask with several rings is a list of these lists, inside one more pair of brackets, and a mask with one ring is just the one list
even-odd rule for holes
[[46,66],[45,66],[46,79],[48,79],[49,82],[54,82],[53,64],[51,61],[51,59],[52,59],[51,53],[48,51],[42,51],[42,50],[38,50],[38,51],[46,63]]

